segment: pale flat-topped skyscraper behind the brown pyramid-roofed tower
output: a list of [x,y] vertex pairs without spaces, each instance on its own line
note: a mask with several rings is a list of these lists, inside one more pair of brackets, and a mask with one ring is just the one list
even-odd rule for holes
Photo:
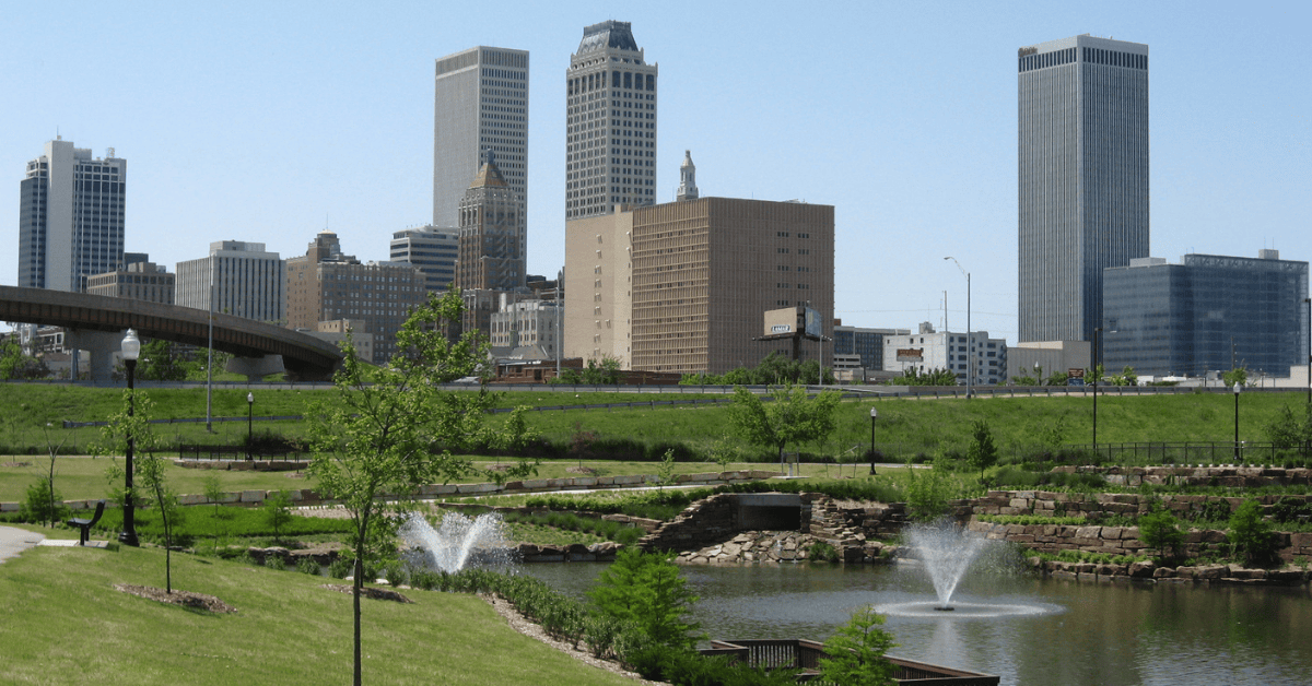
[[529,52],[471,47],[437,60],[433,102],[433,226],[459,226],[461,198],[496,152],[497,167],[520,203],[529,203]]

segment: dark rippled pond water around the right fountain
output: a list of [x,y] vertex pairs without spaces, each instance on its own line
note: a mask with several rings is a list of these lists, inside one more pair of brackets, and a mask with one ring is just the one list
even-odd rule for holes
[[[581,597],[604,564],[523,572]],[[695,618],[715,639],[824,640],[853,609],[932,601],[928,576],[891,567],[685,567]],[[968,575],[953,603],[1033,613],[891,614],[892,655],[1001,676],[1005,685],[1312,683],[1305,586],[1088,584],[1027,573]],[[895,609],[896,610],[896,609]]]

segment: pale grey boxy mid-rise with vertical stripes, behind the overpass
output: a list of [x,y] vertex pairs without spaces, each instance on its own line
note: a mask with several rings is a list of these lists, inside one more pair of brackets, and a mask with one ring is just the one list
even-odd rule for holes
[[182,307],[282,323],[287,316],[287,270],[262,243],[223,240],[210,256],[177,264],[174,300]]

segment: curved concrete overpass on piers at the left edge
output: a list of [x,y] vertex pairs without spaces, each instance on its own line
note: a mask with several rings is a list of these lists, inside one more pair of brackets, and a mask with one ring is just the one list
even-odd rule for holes
[[[231,353],[228,371],[248,376],[286,373],[289,380],[328,380],[341,363],[336,345],[297,331],[192,307],[129,298],[0,286],[0,321],[63,327],[64,345],[91,352],[91,376],[109,380],[110,355],[126,329],[143,338],[163,338]],[[76,359],[76,355],[75,355]]]

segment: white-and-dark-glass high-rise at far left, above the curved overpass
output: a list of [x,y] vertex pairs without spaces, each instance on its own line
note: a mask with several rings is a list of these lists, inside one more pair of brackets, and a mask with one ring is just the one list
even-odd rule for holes
[[123,260],[127,160],[50,140],[28,163],[18,199],[18,286],[81,293]]

